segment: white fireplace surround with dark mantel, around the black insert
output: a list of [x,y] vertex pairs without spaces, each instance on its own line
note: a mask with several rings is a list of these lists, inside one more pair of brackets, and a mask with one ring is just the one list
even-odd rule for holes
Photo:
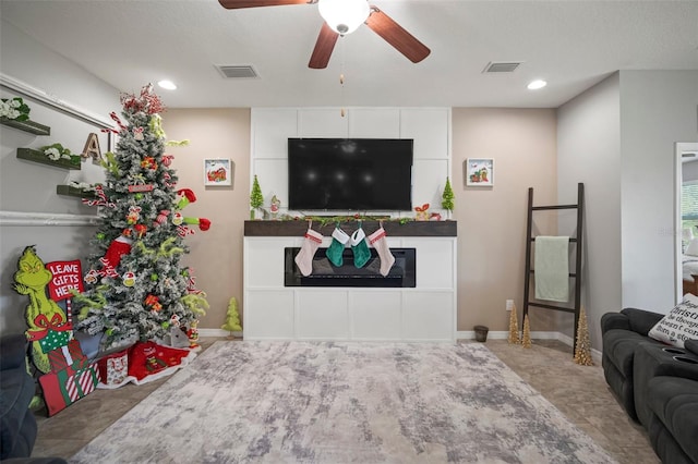
[[[329,246],[334,224],[313,227]],[[342,222],[346,232],[358,227]],[[366,234],[380,225],[362,224]],[[285,248],[308,223],[245,221],[244,339],[453,342],[456,335],[456,221],[383,223],[389,247],[414,248],[414,288],[285,286]]]

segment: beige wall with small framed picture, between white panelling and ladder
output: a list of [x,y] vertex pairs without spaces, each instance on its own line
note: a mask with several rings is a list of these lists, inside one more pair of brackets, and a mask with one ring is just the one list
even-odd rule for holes
[[[534,205],[556,200],[554,109],[454,108],[454,218],[458,220],[458,330],[476,325],[509,328],[506,300],[519,322],[524,307],[528,188]],[[494,158],[492,187],[466,186],[467,158]],[[554,234],[550,216],[535,219],[540,234]],[[554,330],[554,317],[531,308],[532,331]]]

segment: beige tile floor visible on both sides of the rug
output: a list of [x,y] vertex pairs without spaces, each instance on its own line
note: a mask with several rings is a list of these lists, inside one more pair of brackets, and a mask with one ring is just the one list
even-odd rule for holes
[[[201,344],[206,349],[215,340],[203,339]],[[633,423],[613,398],[601,366],[575,364],[571,347],[558,341],[534,340],[531,349],[509,345],[505,340],[488,340],[485,344],[618,463],[660,463],[642,427]],[[97,390],[53,417],[36,412],[39,432],[32,455],[72,456],[165,381],[167,378]]]

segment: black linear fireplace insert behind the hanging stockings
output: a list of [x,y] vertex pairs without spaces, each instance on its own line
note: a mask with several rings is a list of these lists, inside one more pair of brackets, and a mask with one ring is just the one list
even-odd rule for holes
[[313,271],[303,276],[296,265],[294,258],[299,247],[284,248],[284,285],[285,286],[376,286],[376,288],[413,288],[417,284],[417,253],[414,248],[390,248],[395,264],[387,276],[381,274],[381,258],[374,248],[369,248],[371,258],[361,268],[353,264],[353,252],[345,248],[342,265],[334,266],[327,259],[327,248],[321,247],[313,258]]

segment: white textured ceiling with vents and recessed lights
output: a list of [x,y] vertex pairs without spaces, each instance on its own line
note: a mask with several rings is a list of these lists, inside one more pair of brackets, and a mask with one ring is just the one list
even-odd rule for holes
[[[555,108],[617,70],[697,70],[698,1],[375,0],[431,48],[413,64],[366,26],[329,65],[308,60],[317,7],[226,10],[217,0],[2,0],[0,17],[115,87],[169,78],[168,107]],[[521,61],[483,74],[489,62]],[[215,65],[258,77],[226,80]],[[345,75],[345,86],[339,74]],[[526,84],[549,86],[530,91]]]

